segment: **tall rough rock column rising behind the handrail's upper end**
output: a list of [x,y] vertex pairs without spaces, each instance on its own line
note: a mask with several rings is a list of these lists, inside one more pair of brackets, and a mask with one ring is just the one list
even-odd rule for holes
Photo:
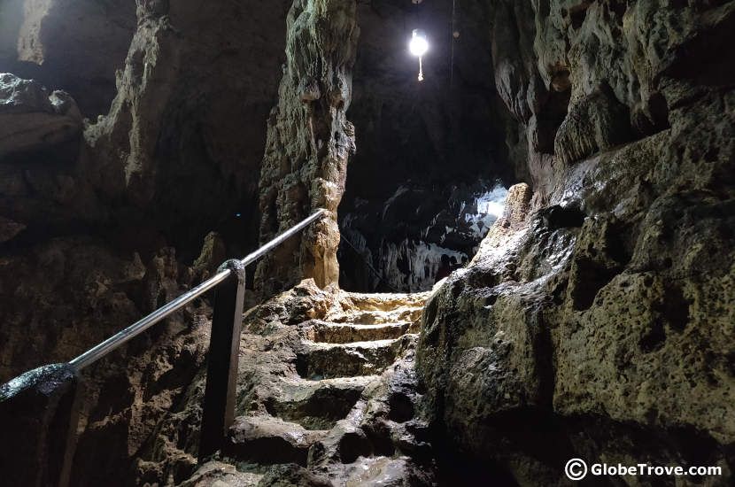
[[337,205],[355,151],[345,113],[360,34],[356,8],[354,0],[297,0],[289,12],[286,65],[260,169],[260,241],[318,208],[328,214],[261,260],[256,280],[267,296],[304,277],[321,287],[339,277]]

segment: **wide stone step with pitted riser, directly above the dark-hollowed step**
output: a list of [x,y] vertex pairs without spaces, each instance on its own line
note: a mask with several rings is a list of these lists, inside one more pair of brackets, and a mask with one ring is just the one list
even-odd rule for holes
[[415,346],[417,335],[408,334],[392,340],[324,344],[304,342],[297,352],[298,375],[309,380],[356,375],[378,375],[391,366],[403,352]]

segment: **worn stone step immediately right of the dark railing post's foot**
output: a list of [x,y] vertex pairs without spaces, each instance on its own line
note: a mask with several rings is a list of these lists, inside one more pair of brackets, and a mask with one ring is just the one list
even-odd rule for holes
[[226,455],[261,464],[297,463],[306,467],[309,447],[328,430],[309,430],[267,414],[239,416],[228,431]]

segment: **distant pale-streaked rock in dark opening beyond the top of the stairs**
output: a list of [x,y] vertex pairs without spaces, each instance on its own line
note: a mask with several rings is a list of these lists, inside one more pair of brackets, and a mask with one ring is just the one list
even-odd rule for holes
[[436,188],[401,185],[385,202],[363,200],[342,216],[340,286],[360,291],[429,290],[442,255],[456,259],[459,266],[475,254],[502,213],[507,189],[484,180]]

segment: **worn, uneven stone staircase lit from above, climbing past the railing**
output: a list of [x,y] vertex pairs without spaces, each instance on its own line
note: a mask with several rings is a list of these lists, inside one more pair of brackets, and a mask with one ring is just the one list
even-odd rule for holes
[[182,487],[431,485],[414,349],[429,293],[301,282],[245,313],[235,424]]

